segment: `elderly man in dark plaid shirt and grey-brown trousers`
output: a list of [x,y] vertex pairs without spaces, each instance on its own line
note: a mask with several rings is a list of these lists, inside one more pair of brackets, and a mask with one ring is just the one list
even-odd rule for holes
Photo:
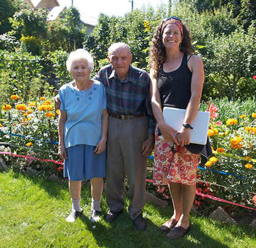
[[146,71],[131,65],[132,54],[125,43],[109,47],[110,65],[102,67],[94,79],[106,86],[109,111],[107,141],[106,221],[112,222],[124,207],[124,179],[129,181],[132,200],[129,214],[138,230],[145,230],[142,217],[145,205],[147,156],[154,149],[154,126],[150,78]]

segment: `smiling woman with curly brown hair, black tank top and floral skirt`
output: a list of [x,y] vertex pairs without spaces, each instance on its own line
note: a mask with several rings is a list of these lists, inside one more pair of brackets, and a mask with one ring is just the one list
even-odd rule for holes
[[[189,32],[179,18],[167,17],[157,27],[149,66],[157,121],[153,183],[169,185],[174,214],[161,230],[168,231],[167,238],[177,239],[190,230],[188,216],[196,194],[197,166],[202,155],[202,163],[207,161],[206,146],[189,144],[190,124],[197,115],[203,89],[203,62],[195,55]],[[163,107],[186,109],[180,130],[164,122]],[[160,133],[164,139],[159,138]]]

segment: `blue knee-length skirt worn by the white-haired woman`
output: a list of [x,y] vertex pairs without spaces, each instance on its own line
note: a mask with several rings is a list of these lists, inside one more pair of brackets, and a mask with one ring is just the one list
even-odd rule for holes
[[105,177],[106,150],[95,154],[95,147],[79,144],[66,148],[68,159],[64,161],[64,177],[71,181]]

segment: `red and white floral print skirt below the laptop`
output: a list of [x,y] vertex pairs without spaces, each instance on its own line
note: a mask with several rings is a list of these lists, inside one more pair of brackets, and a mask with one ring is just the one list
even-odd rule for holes
[[196,185],[201,155],[190,153],[184,146],[159,138],[155,130],[154,185],[181,183]]

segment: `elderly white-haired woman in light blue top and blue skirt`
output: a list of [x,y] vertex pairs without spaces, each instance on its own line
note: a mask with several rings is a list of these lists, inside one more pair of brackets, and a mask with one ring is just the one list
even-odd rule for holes
[[100,219],[103,177],[106,176],[105,146],[108,133],[105,86],[91,80],[94,62],[84,49],[72,52],[67,69],[74,81],[59,89],[58,154],[64,162],[64,177],[69,177],[72,211],[66,218],[74,222],[82,213],[80,207],[81,181],[90,179],[92,185],[91,221]]

